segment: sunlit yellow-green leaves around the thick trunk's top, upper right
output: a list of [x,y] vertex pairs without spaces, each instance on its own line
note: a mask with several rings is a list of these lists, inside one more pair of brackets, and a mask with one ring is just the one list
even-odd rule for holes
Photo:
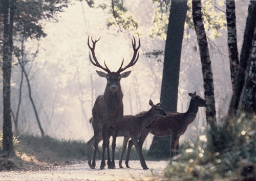
[[[170,2],[163,0],[153,0],[153,4],[156,5],[153,16],[153,27],[150,37],[157,37],[159,39],[166,38],[168,17],[170,11]],[[217,8],[217,5],[223,6],[223,1],[202,1],[202,13],[204,28],[209,31],[209,37],[216,39],[221,36],[220,30],[226,29],[226,15],[224,12]],[[192,18],[192,2],[188,1],[188,11],[185,22],[185,30],[194,29],[194,23]],[[189,38],[188,31],[185,31],[184,37]]]

